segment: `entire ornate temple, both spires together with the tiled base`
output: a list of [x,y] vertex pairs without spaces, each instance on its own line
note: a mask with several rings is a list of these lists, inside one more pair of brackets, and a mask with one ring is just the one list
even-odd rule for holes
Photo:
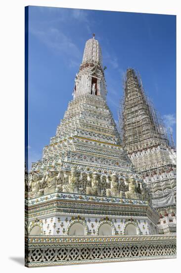
[[176,150],[133,68],[117,129],[104,70],[93,34],[56,134],[25,174],[27,267],[176,257]]

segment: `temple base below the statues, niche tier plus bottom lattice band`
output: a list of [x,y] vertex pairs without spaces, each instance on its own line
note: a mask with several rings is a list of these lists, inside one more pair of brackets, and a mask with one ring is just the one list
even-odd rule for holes
[[[27,267],[176,258],[176,236],[154,234],[159,215],[147,201],[54,193],[25,206]],[[75,236],[77,224],[84,233]],[[41,235],[31,235],[35,228]]]

